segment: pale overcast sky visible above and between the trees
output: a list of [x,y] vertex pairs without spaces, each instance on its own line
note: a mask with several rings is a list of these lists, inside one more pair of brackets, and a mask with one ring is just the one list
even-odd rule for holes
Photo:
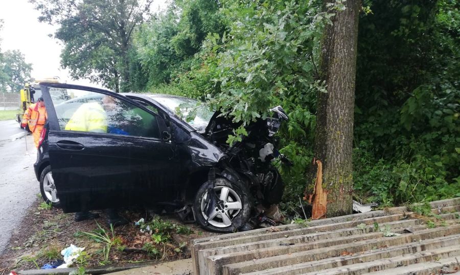
[[[164,9],[165,3],[166,0],[154,0],[151,11]],[[32,63],[32,77],[35,79],[57,76],[62,82],[100,87],[88,80],[72,80],[68,71],[61,68],[62,45],[49,36],[59,26],[40,23],[38,16],[40,12],[28,0],[0,0],[0,19],[5,21],[0,32],[2,51],[19,49],[26,62]]]

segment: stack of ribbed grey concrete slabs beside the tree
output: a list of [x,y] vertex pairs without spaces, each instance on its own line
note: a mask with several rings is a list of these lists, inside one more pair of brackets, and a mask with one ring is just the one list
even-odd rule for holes
[[[431,207],[435,214],[460,211],[460,198]],[[457,257],[459,213],[440,217],[439,227],[427,228],[426,218],[397,207],[314,220],[308,227],[292,224],[197,239],[190,243],[194,274],[362,274]],[[394,233],[401,235],[388,236]]]

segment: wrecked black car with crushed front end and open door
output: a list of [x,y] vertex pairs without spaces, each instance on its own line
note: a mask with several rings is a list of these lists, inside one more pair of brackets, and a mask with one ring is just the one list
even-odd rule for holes
[[279,106],[230,146],[239,125],[194,99],[40,87],[48,122],[34,168],[42,197],[64,212],[163,205],[183,218],[191,210],[210,231],[233,232],[256,204],[281,201],[283,181],[272,162],[288,160],[274,134],[288,117]]

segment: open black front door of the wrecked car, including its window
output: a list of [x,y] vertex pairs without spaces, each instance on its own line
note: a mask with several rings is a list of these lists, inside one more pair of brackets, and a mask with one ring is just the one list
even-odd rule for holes
[[175,145],[164,118],[125,96],[75,85],[41,86],[50,165],[64,212],[174,198]]

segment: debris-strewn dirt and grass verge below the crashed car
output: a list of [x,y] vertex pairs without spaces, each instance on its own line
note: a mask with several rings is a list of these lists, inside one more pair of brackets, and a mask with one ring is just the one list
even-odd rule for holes
[[[13,230],[8,247],[0,256],[0,275],[11,270],[54,268],[66,262],[61,254],[74,245],[78,254],[72,267],[95,267],[143,261],[172,261],[190,257],[190,239],[214,236],[196,224],[183,224],[174,216],[153,217],[146,212],[123,211],[128,224],[110,227],[103,211],[96,220],[74,221],[73,213],[42,203],[41,197],[28,209],[21,225]],[[136,221],[141,220],[142,222]]]

